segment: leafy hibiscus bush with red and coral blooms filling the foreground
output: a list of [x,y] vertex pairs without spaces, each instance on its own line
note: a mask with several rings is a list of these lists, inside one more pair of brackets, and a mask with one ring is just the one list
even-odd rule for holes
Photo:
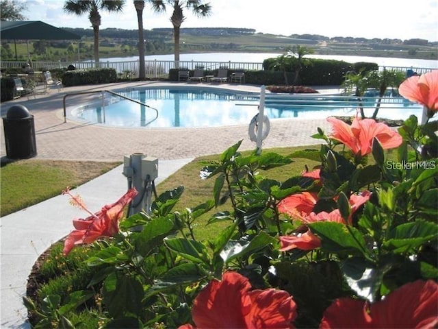
[[[95,241],[80,302],[99,297],[104,328],[435,328],[434,121],[411,117],[398,131],[373,119],[329,122],[329,134],[313,135],[319,148],[289,156],[229,147],[203,164],[214,190],[194,208],[172,210],[179,186],[149,213],[114,217],[111,239],[96,239],[102,212],[81,234],[75,222],[68,250]],[[263,177],[295,158],[319,164],[285,181]],[[194,226],[219,205],[227,210],[209,224],[229,225],[205,241]]]

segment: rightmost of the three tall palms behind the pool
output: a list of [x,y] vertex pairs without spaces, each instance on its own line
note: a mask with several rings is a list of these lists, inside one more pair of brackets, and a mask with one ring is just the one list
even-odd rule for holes
[[166,5],[171,5],[173,8],[170,21],[173,25],[175,62],[179,62],[179,29],[183,21],[185,21],[183,8],[192,10],[198,17],[205,17],[211,14],[211,5],[209,3],[202,3],[201,0],[153,0],[152,5],[153,9],[157,12],[165,11]]

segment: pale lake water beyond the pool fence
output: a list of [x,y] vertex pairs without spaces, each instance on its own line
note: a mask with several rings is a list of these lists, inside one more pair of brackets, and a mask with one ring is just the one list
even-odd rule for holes
[[[205,62],[255,62],[261,63],[266,58],[274,58],[281,53],[181,53],[180,60],[194,60]],[[438,60],[416,60],[409,58],[368,57],[368,56],[340,56],[340,55],[307,55],[308,58],[322,58],[327,60],[344,60],[348,63],[375,62],[379,66],[403,66],[414,68],[438,69]],[[173,60],[173,54],[146,55],[146,60]],[[138,60],[138,56],[101,58],[102,62],[129,62]]]

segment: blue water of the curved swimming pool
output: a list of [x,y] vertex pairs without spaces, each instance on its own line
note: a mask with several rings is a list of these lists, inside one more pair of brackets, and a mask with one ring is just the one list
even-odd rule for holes
[[[138,87],[116,93],[148,107],[108,94],[104,99],[74,108],[67,113],[68,119],[112,127],[216,127],[248,124],[258,113],[259,105],[259,93],[203,86]],[[365,109],[365,114],[369,117],[372,110]],[[346,106],[341,97],[313,94],[291,101],[290,97],[271,98],[266,94],[265,114],[269,119],[322,119],[354,116],[356,112],[355,106]],[[385,104],[379,117],[407,119],[410,114],[421,117],[421,113],[421,106],[399,98]]]

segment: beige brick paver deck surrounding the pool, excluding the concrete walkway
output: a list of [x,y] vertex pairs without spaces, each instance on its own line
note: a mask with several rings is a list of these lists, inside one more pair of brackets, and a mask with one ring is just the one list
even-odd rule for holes
[[[73,121],[64,123],[62,117],[63,97],[67,93],[80,93],[92,90],[116,90],[138,86],[208,86],[232,90],[259,92],[259,86],[240,84],[198,84],[166,82],[123,82],[119,84],[100,84],[90,86],[66,87],[60,92],[51,90],[47,95],[37,95],[36,99],[21,97],[1,103],[1,117],[10,106],[21,104],[34,115],[36,130],[36,149],[38,159],[56,160],[100,160],[119,161],[123,156],[141,152],[159,159],[194,158],[206,154],[222,153],[227,147],[243,140],[241,150],[254,149],[255,143],[248,138],[248,125],[226,127],[196,128],[125,128],[103,127],[94,124],[81,124]],[[339,93],[337,88],[318,88],[320,93]],[[90,95],[69,96],[67,109],[78,106]],[[95,96],[94,96],[95,97]],[[208,110],[208,109],[206,109]],[[249,123],[248,123],[249,124]],[[1,136],[4,136],[3,121]],[[325,118],[273,119],[269,136],[263,147],[289,147],[320,143],[310,137],[317,128],[329,129]],[[6,156],[5,141],[1,138],[0,156]]]

